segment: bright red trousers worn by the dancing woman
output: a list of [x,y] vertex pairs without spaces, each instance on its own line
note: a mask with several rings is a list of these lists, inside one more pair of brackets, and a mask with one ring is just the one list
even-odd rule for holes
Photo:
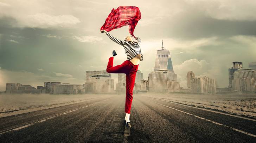
[[133,101],[133,87],[139,65],[134,65],[130,60],[126,60],[121,65],[113,66],[113,59],[114,57],[108,59],[107,72],[126,74],[126,99],[124,112],[130,114]]

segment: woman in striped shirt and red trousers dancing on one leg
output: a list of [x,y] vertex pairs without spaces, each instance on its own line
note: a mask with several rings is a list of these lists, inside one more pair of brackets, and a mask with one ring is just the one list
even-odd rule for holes
[[114,56],[116,56],[115,50],[113,50],[111,56],[108,59],[107,72],[108,73],[125,73],[126,74],[126,100],[125,100],[125,113],[124,122],[129,128],[132,128],[130,124],[130,109],[133,101],[133,87],[135,83],[136,72],[139,67],[139,63],[143,60],[143,55],[140,50],[140,38],[136,37],[137,42],[134,42],[131,36],[127,36],[124,41],[121,41],[112,35],[110,35],[106,30],[100,30],[101,33],[106,33],[108,37],[124,47],[125,53],[127,55],[127,60],[121,65],[113,66]]

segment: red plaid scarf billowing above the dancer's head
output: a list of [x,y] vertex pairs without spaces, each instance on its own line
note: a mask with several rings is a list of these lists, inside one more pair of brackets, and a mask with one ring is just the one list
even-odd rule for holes
[[129,33],[133,35],[133,31],[138,21],[141,19],[140,9],[136,6],[120,6],[113,8],[108,15],[101,30],[111,31],[123,26],[129,25]]

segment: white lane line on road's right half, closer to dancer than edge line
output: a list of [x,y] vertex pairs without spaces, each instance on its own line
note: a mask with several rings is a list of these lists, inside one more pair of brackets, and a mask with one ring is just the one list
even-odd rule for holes
[[[157,102],[154,102],[154,103],[159,104],[159,105],[162,105],[162,104],[157,103]],[[192,116],[197,117],[197,118],[199,118],[199,119],[203,119],[203,120],[205,120],[205,121],[209,121],[209,122],[218,124],[218,125],[220,125],[220,126],[224,126],[224,127],[226,127],[226,128],[230,128],[230,129],[232,129],[232,130],[238,131],[238,132],[243,133],[243,134],[247,134],[247,135],[252,136],[252,137],[256,137],[256,135],[254,135],[254,134],[250,134],[250,133],[247,133],[247,132],[245,132],[245,131],[238,130],[238,129],[236,129],[236,128],[232,128],[232,127],[226,126],[226,125],[224,125],[224,124],[221,124],[221,123],[218,123],[218,122],[215,122],[215,121],[212,121],[212,120],[208,120],[208,119],[205,119],[205,118],[203,118],[203,117],[199,117],[199,116],[197,116],[197,115],[193,115],[193,114],[190,114],[190,113],[187,113],[187,112],[184,112],[184,111],[181,111],[181,110],[178,110],[178,109],[175,109],[175,108],[166,106],[166,105],[162,105],[162,106],[165,106],[165,107],[168,107],[168,108],[177,110],[177,111],[179,111],[179,112],[182,112],[182,113],[185,113],[185,114],[188,114],[188,115],[192,115]]]

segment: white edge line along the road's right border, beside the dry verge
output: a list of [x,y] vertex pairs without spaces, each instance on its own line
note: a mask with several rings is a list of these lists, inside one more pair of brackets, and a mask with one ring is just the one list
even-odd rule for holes
[[[152,98],[152,97],[148,97],[148,98]],[[238,118],[242,118],[242,119],[246,119],[246,120],[256,121],[255,119],[250,119],[250,118],[247,118],[247,117],[242,117],[242,116],[238,116],[238,115],[232,115],[232,114],[228,114],[228,113],[223,113],[223,112],[218,112],[218,111],[214,111],[214,110],[194,107],[194,106],[190,106],[190,105],[184,105],[184,104],[180,104],[180,103],[175,103],[173,101],[165,101],[165,100],[156,99],[156,98],[152,98],[152,99],[164,101],[164,102],[167,102],[167,103],[173,103],[173,104],[177,104],[177,105],[187,106],[187,107],[191,107],[191,108],[201,109],[201,110],[205,110],[205,111],[209,111],[209,112],[219,113],[219,114],[223,114],[223,115],[238,117]]]

